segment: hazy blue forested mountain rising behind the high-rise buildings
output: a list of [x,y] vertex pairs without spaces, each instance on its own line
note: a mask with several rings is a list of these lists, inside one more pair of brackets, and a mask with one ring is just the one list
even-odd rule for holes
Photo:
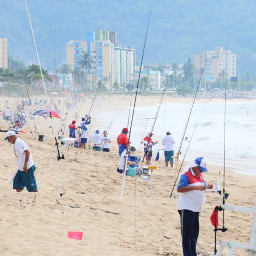
[[[142,54],[149,0],[28,0],[43,66],[53,69],[57,27],[57,67],[70,40],[87,30],[116,29],[118,42]],[[0,37],[13,56],[37,63],[23,0],[0,0]],[[186,62],[194,52],[223,46],[237,54],[237,74],[255,71],[256,4],[252,0],[157,0],[149,26],[144,63]],[[48,67],[47,67],[48,66]]]

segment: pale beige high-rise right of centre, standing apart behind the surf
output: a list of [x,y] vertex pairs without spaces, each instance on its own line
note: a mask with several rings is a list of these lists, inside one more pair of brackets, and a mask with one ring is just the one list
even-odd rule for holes
[[[226,51],[223,47],[216,47],[214,51],[207,51],[206,53],[194,54],[194,65],[200,71],[204,67],[204,62],[207,57],[205,65],[205,77],[213,82],[216,81],[222,71],[226,71],[227,77],[236,77],[236,55],[231,51]],[[226,63],[227,60],[227,63]]]

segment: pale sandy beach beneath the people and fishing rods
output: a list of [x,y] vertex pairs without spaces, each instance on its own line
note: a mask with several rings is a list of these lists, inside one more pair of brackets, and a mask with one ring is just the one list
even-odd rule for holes
[[[159,97],[140,96],[137,105],[157,105]],[[1,110],[4,110],[5,100],[8,98],[0,98]],[[191,103],[193,99],[167,96],[166,101],[168,100]],[[100,95],[97,101],[92,108],[92,117],[104,114],[104,110],[114,112],[116,109],[121,110],[124,106],[129,106],[130,97],[121,94],[108,97]],[[11,105],[14,109],[13,100],[11,100]],[[79,113],[78,118],[88,113],[90,101],[86,100],[86,104],[79,105],[77,109],[69,112],[66,132],[68,124],[74,118],[75,111],[79,111],[80,107],[83,111]],[[34,122],[29,120],[28,124],[34,132]],[[97,125],[101,130],[104,127],[99,119]],[[1,129],[8,128],[6,121],[2,119],[0,126]],[[16,164],[13,145],[3,141],[4,133],[0,133],[2,162],[0,255],[182,255],[180,217],[176,210],[177,199],[170,199],[171,188],[177,174],[175,168],[172,170],[166,168],[163,158],[157,162],[153,160],[153,164],[157,165],[153,197],[150,197],[150,178],[147,183],[139,177],[136,179],[127,177],[124,199],[120,201],[122,175],[116,172],[119,156],[115,140],[111,143],[110,153],[95,152],[89,150],[88,147],[86,150],[70,147],[67,152],[67,147],[65,147],[65,159],[59,161],[61,186],[65,195],[60,198],[55,141],[52,128],[49,128],[51,122],[47,120],[46,123],[43,118],[36,119],[36,126],[40,134],[45,135],[47,139],[45,142],[38,141],[34,133],[30,134],[28,126],[25,126],[24,134],[18,134],[19,138],[27,142],[36,163],[36,179],[39,189],[36,197],[35,194],[28,193],[26,189],[21,193],[16,193],[12,185],[7,184],[7,180],[16,169]],[[60,121],[54,120],[54,126],[57,133]],[[95,129],[95,126],[94,124],[92,129]],[[203,152],[201,154],[203,156]],[[219,171],[223,174],[223,167],[209,166],[208,169],[209,172],[204,175],[204,178],[207,183],[214,184]],[[223,176],[221,176],[222,179]],[[226,190],[230,193],[228,204],[254,206],[256,177],[226,169],[225,183]],[[215,205],[218,204],[217,194],[206,194],[206,204],[203,213],[200,214],[197,246],[199,255],[213,254],[214,232],[210,216]],[[220,214],[220,223],[222,223],[222,214]],[[228,232],[219,232],[217,241],[225,239],[248,242],[251,223],[252,214],[226,211],[225,226]],[[68,238],[67,231],[73,230],[72,227],[84,232],[82,241]],[[246,252],[236,250],[235,255],[243,256]]]

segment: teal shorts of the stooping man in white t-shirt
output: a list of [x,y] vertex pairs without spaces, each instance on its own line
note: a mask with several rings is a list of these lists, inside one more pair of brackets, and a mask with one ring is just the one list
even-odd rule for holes
[[37,190],[36,185],[36,178],[34,176],[34,173],[36,171],[35,165],[30,167],[28,171],[18,171],[15,178],[14,178],[14,184],[13,188],[20,188],[21,190],[26,188],[28,189],[28,192],[33,192]]

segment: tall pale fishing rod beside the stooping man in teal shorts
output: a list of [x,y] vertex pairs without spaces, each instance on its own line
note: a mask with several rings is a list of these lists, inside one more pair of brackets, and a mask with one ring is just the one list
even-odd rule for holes
[[[29,14],[29,10],[28,10],[27,0],[25,0],[25,4],[26,4],[26,8],[27,8],[28,21],[29,21],[29,25],[30,25],[30,28],[31,28],[31,33],[32,33],[33,43],[34,43],[34,46],[35,46],[35,51],[36,51],[36,56],[37,56],[37,60],[38,60],[38,64],[39,64],[39,69],[40,69],[40,73],[41,73],[41,77],[42,77],[42,81],[43,81],[43,89],[44,89],[44,93],[45,93],[46,100],[47,100],[47,104],[48,104],[49,111],[50,111],[50,110],[51,110],[51,108],[50,108],[50,103],[49,103],[49,100],[48,100],[47,89],[46,89],[46,85],[45,85],[45,81],[44,81],[44,77],[43,77],[43,71],[42,71],[41,61],[40,61],[39,54],[38,54],[38,50],[37,50],[37,44],[36,44],[36,39],[35,39],[35,35],[34,35],[34,30],[33,30],[32,23],[31,23],[31,19],[30,19],[30,14]],[[51,117],[52,127],[53,127],[53,130],[54,130],[54,136],[55,136],[56,156],[57,156],[57,159],[56,159],[56,160],[57,160],[58,183],[59,183],[59,195],[62,197],[62,195],[64,195],[65,193],[62,192],[62,187],[61,187],[59,160],[60,160],[60,159],[65,159],[65,157],[64,157],[63,154],[62,154],[62,156],[60,156],[60,153],[59,153],[58,142],[57,142],[57,138],[56,138],[56,133],[55,133],[55,128],[54,128],[54,124],[53,124],[53,118],[52,118],[51,111],[50,111],[50,117]],[[63,146],[63,145],[62,145],[62,146]]]

